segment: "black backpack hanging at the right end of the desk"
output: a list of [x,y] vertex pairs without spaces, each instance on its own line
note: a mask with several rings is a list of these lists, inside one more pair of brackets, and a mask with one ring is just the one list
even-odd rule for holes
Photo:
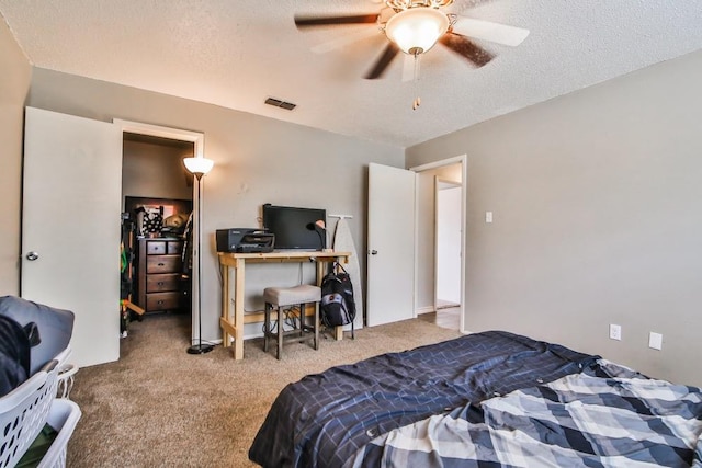
[[[336,267],[341,272],[336,273]],[[326,327],[340,327],[351,323],[351,338],[354,336],[353,319],[355,303],[351,277],[339,263],[333,264],[331,272],[321,281],[321,321]]]

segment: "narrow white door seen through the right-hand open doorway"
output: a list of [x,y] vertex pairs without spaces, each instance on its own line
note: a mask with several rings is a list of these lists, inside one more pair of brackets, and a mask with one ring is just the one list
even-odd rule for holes
[[461,304],[461,185],[437,181],[435,306]]

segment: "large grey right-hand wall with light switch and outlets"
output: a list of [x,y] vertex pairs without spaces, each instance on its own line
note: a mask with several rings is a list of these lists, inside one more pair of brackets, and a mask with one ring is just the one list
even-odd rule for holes
[[468,330],[702,385],[701,82],[697,52],[407,150],[468,155]]

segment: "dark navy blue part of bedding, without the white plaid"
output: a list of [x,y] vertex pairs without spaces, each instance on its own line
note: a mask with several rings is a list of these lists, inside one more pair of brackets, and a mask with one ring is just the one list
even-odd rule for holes
[[598,357],[488,331],[332,367],[281,391],[249,458],[267,468],[342,467],[382,434],[580,373]]

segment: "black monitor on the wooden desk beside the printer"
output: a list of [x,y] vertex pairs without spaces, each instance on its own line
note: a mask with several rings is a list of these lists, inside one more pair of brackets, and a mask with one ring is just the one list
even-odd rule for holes
[[318,220],[327,221],[327,212],[317,208],[263,205],[263,227],[275,235],[275,249],[321,250],[327,235],[315,229]]

